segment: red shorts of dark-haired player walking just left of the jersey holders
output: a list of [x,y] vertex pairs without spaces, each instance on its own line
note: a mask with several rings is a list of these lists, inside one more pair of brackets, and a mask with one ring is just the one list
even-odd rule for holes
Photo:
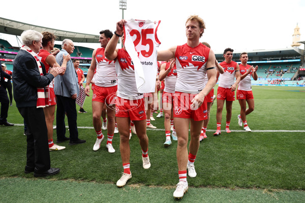
[[115,95],[116,95],[117,85],[112,87],[100,87],[98,85],[94,86],[92,101],[99,101],[108,105],[115,104]]

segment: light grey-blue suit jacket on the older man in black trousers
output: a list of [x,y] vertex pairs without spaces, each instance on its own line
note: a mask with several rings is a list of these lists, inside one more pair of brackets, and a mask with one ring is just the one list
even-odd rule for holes
[[[56,62],[59,65],[63,64],[63,54],[67,55],[68,52],[65,49],[62,49],[55,57]],[[75,93],[78,95],[78,79],[71,59],[67,62],[65,74],[63,76],[58,75],[54,79],[54,93],[55,95],[66,97],[71,97]]]

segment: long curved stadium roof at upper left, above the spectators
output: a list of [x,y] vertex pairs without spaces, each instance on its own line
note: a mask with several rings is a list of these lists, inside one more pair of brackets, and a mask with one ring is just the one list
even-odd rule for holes
[[63,41],[64,39],[70,39],[73,42],[81,43],[97,43],[100,36],[90,35],[85,33],[71,32],[59,29],[53,29],[48,27],[42,27],[32,24],[27,24],[23,22],[18,22],[6,18],[0,17],[0,32],[6,33],[8,35],[20,36],[24,30],[33,29],[39,32],[49,31],[54,33],[58,37],[58,41]]

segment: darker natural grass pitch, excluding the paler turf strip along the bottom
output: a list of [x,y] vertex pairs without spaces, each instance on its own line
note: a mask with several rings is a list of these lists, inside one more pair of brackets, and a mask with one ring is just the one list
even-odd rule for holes
[[[267,191],[305,190],[304,131],[264,132],[264,130],[304,130],[304,91],[305,88],[302,87],[253,86],[255,110],[247,116],[253,132],[241,131],[242,128],[238,126],[236,116],[240,109],[236,100],[233,102],[230,125],[233,132],[224,132],[226,114],[224,108],[223,132],[218,137],[212,136],[216,130],[215,103],[211,110],[208,138],[201,142],[195,161],[197,177],[188,178],[189,186],[198,189],[224,187],[260,188]],[[9,109],[8,121],[22,124],[23,119],[15,104],[13,105]],[[91,98],[86,98],[84,109],[88,113],[78,114],[78,126],[93,127]],[[155,118],[156,115],[154,114]],[[165,132],[161,130],[164,129],[163,121],[164,118],[156,118],[156,121],[151,123],[159,130],[147,130],[148,154],[151,161],[148,170],[142,167],[141,148],[137,137],[133,135],[130,140],[130,167],[133,178],[127,185],[170,187],[169,193],[172,195],[173,187],[178,182],[177,142],[173,142],[168,148],[163,147],[165,142]],[[76,146],[69,146],[66,142],[62,144],[67,147],[65,150],[50,152],[51,166],[59,167],[61,171],[58,175],[45,179],[94,181],[96,184],[110,183],[111,187],[114,187],[113,184],[123,172],[118,134],[113,138],[116,152],[110,154],[105,147],[106,141],[102,142],[99,151],[93,151],[96,140],[93,128],[78,130],[79,138],[87,142]],[[106,134],[107,131],[103,130],[103,133]],[[54,130],[54,140],[56,140],[56,130]],[[37,180],[33,174],[23,173],[25,152],[23,126],[0,126],[0,178],[5,178],[3,180],[10,177],[25,178],[30,185]],[[291,201],[287,200],[287,202]]]

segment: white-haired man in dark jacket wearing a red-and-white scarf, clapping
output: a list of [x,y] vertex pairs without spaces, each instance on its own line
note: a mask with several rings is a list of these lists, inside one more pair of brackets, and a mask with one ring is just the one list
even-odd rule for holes
[[57,174],[59,168],[50,167],[48,131],[43,108],[47,106],[45,88],[64,69],[53,67],[47,74],[37,53],[42,46],[42,34],[35,30],[22,32],[23,46],[13,62],[14,99],[19,113],[28,126],[26,136],[26,165],[24,173],[34,177]]

